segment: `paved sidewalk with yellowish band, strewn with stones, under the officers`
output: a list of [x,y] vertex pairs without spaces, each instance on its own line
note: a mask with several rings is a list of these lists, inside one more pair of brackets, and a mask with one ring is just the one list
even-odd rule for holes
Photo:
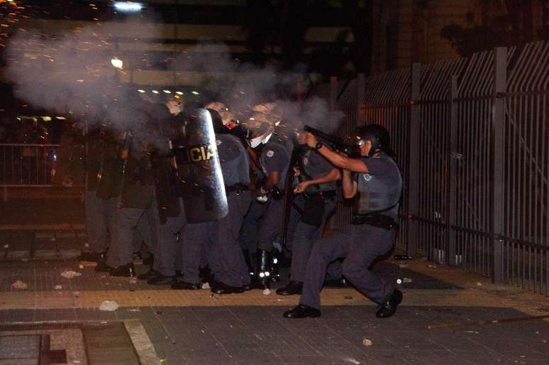
[[[138,271],[145,269],[138,266]],[[82,275],[63,278],[68,270]],[[395,283],[411,280],[400,285],[404,302],[394,317],[375,318],[370,300],[353,288],[326,288],[322,317],[287,320],[282,313],[299,298],[274,290],[220,296],[110,278],[76,261],[4,261],[0,321],[138,320],[148,341],[134,346],[153,344],[156,364],[547,364],[548,322],[467,324],[549,315],[549,298],[421,260],[389,260],[374,271]],[[28,287],[12,288],[16,280]],[[118,309],[99,310],[104,300],[115,300]],[[462,326],[428,329],[445,323]],[[67,359],[80,361],[74,364],[111,364],[71,356]]]

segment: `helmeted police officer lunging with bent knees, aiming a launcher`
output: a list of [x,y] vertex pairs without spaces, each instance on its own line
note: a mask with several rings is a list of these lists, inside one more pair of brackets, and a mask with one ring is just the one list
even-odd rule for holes
[[[306,144],[343,170],[343,194],[356,197],[353,224],[315,242],[307,263],[299,305],[284,312],[287,318],[319,317],[320,290],[330,261],[345,258],[343,275],[363,295],[378,303],[376,316],[397,311],[402,293],[369,270],[394,244],[402,178],[389,148],[389,133],[370,124],[357,129],[359,158],[343,156],[306,134]],[[355,173],[353,177],[353,173]]]

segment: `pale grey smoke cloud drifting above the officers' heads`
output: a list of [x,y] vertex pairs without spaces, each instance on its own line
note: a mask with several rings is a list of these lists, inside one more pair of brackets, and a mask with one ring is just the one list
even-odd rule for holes
[[[275,64],[259,67],[240,62],[223,43],[201,43],[170,56],[143,52],[151,49],[151,39],[162,37],[160,25],[145,19],[122,24],[98,21],[48,37],[40,30],[19,31],[11,36],[6,50],[6,77],[16,85],[17,96],[33,107],[70,113],[89,123],[109,119],[120,130],[146,124],[138,106],[142,101],[137,90],[142,86],[121,82],[131,81],[128,68],[159,65],[182,80],[191,78],[209,95],[204,103],[224,102],[240,119],[248,118],[255,104],[274,102],[288,129],[308,124],[331,133],[343,116],[330,113],[324,99],[296,100],[296,85],[304,80],[303,66],[281,72]],[[136,57],[144,53],[146,58]],[[115,57],[123,60],[122,70],[111,64]]]

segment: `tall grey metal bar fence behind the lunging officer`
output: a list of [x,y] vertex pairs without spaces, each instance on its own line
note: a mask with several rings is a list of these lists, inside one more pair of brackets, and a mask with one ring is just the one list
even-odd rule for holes
[[[549,295],[548,42],[332,80],[328,92],[345,111],[340,134],[372,122],[392,134],[399,248]],[[342,203],[332,228],[349,220]]]

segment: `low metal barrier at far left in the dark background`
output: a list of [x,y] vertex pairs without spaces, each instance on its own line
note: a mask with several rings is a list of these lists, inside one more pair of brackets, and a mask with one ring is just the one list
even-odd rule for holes
[[58,144],[0,144],[0,187],[51,186]]

